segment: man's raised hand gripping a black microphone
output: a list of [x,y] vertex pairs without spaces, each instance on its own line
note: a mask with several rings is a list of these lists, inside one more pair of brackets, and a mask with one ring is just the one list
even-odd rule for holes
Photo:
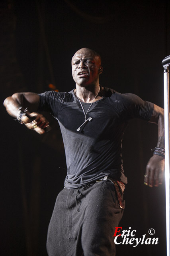
[[35,119],[32,121],[27,116],[23,115],[21,118],[21,121],[27,126],[29,130],[34,130],[38,134],[45,133],[45,128],[49,126],[49,122],[47,119],[39,113],[32,112],[29,114],[32,117],[35,117]]

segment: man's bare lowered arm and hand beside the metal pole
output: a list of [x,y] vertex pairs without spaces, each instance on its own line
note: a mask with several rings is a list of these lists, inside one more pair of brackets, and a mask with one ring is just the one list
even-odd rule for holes
[[[154,104],[154,110],[149,122],[158,124],[158,143],[156,147],[165,147],[164,137],[164,109]],[[163,182],[165,159],[154,154],[147,163],[144,183],[149,187],[158,187]]]

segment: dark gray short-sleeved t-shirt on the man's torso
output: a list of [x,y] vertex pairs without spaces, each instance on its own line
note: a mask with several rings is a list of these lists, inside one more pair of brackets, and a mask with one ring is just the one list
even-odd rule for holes
[[131,118],[149,121],[153,104],[135,94],[120,94],[104,88],[103,98],[83,103],[86,118],[92,117],[82,131],[84,113],[74,90],[48,91],[40,96],[39,110],[48,111],[58,120],[63,136],[67,176],[64,186],[77,188],[105,175],[127,183],[121,157],[122,137]]

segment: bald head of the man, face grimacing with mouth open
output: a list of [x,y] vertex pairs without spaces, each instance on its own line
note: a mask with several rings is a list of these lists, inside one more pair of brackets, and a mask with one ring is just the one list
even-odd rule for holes
[[86,48],[78,50],[72,57],[72,77],[76,84],[88,86],[98,81],[100,58]]

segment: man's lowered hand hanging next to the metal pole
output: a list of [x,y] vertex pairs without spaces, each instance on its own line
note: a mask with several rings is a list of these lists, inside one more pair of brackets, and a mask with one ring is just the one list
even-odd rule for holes
[[165,159],[162,156],[153,155],[146,167],[144,183],[149,187],[158,187],[163,183]]

